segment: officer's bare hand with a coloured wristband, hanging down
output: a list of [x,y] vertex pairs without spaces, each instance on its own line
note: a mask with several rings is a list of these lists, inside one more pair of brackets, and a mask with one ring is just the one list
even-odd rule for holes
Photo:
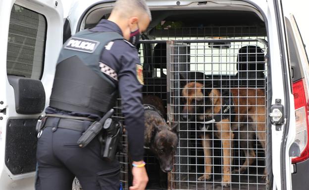
[[[136,165],[140,165],[142,162],[133,162]],[[130,190],[145,190],[148,183],[148,175],[145,167],[133,167],[133,186],[130,187]]]

